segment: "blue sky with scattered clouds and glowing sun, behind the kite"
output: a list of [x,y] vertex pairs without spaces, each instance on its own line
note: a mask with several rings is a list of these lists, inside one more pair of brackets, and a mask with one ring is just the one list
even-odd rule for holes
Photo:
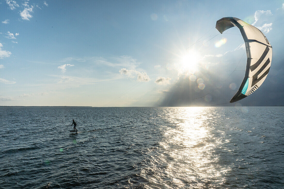
[[246,55],[237,27],[215,29],[223,17],[259,28],[273,49],[260,88],[224,106],[284,105],[283,0],[1,0],[0,10],[0,106],[228,103]]

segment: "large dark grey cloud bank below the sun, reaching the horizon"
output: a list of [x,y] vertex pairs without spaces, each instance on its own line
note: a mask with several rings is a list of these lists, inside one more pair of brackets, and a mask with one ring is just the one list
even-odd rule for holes
[[[235,95],[243,77],[245,75],[244,56],[240,65],[236,61],[236,52],[227,53],[227,57],[217,63],[200,66],[199,72],[194,74],[183,74],[178,81],[174,83],[168,91],[164,91],[162,98],[156,104],[157,106],[283,106],[283,61],[272,61],[272,66],[268,77],[260,88],[248,97],[235,103],[228,103]],[[236,53],[241,57],[240,52]],[[233,71],[235,68],[236,71]],[[237,70],[242,71],[237,71]],[[202,80],[199,80],[202,79]],[[200,86],[200,82],[204,86]],[[204,87],[204,89],[202,89]],[[237,89],[236,89],[237,88]],[[228,103],[228,104],[224,104]]]

